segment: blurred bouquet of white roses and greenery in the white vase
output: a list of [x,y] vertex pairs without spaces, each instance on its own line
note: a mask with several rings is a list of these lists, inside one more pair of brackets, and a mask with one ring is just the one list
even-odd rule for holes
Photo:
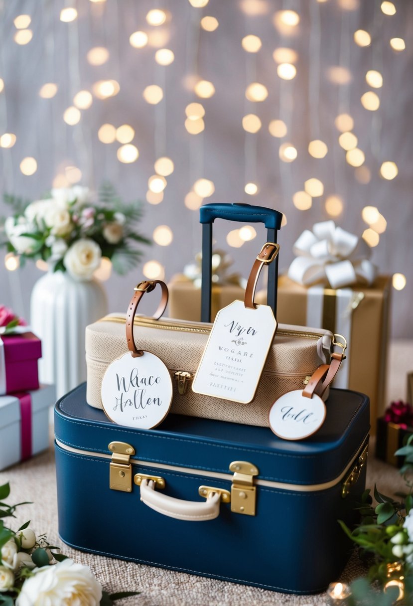
[[150,244],[136,230],[140,204],[124,204],[108,184],[98,201],[79,185],[52,189],[46,199],[30,204],[12,196],[4,201],[13,215],[4,220],[0,244],[23,261],[43,259],[76,280],[90,280],[102,257],[111,259],[117,273],[125,273],[142,255],[136,244]]

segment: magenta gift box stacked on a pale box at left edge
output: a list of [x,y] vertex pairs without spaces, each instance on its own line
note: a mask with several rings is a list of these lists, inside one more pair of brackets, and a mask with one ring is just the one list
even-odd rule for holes
[[38,389],[38,359],[42,357],[40,339],[28,332],[21,335],[3,335],[1,340],[5,361],[4,393]]

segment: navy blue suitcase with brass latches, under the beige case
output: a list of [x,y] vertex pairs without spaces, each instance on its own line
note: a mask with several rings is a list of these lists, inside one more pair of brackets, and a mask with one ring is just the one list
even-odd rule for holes
[[[369,431],[366,396],[332,389],[326,405],[322,428],[301,442],[180,415],[136,430],[88,406],[81,385],[55,407],[59,534],[114,558],[288,593],[322,591],[351,552],[337,520],[356,521]],[[167,495],[165,505],[140,501],[143,486]],[[200,507],[218,499],[219,516],[171,518],[169,503],[179,499]]]

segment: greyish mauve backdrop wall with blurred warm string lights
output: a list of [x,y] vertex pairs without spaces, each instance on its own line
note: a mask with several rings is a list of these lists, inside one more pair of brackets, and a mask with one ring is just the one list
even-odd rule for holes
[[[394,335],[413,336],[411,2],[0,6],[1,190],[33,200],[108,179],[144,203],[154,244],[133,275],[111,276],[111,310],[142,273],[169,279],[192,261],[202,202],[249,202],[284,213],[283,269],[316,221],[363,235],[403,290]],[[215,234],[246,275],[264,232],[221,221]],[[1,264],[0,300],[27,316],[44,267],[18,263]]]

